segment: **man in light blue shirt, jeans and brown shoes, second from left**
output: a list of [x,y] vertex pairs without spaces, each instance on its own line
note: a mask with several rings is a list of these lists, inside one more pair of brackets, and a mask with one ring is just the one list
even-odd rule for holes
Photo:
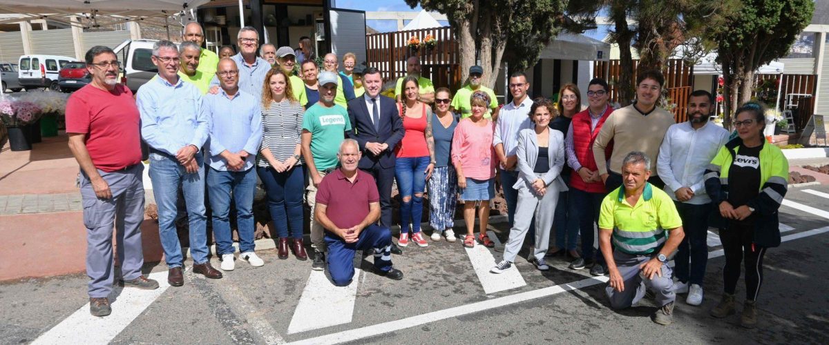
[[176,231],[178,188],[181,186],[190,221],[193,272],[221,278],[207,260],[205,170],[201,146],[210,132],[210,118],[201,112],[201,92],[178,77],[178,49],[171,41],[153,45],[158,78],[138,89],[141,137],[150,146],[150,179],[158,204],[158,233],[170,285],[184,285],[182,246]]

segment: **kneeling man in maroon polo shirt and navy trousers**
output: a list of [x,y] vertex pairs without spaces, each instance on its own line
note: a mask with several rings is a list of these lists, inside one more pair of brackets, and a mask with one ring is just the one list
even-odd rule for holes
[[322,178],[317,189],[314,217],[325,228],[328,273],[334,285],[346,286],[354,278],[354,252],[374,250],[374,270],[380,276],[403,279],[391,266],[391,232],[376,224],[380,194],[374,178],[357,169],[362,154],[356,140],[340,144],[340,168]]

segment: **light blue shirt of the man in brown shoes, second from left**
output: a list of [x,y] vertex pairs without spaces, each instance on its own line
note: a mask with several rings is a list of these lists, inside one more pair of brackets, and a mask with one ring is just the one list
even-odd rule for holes
[[210,117],[201,112],[201,91],[195,85],[181,78],[176,84],[153,78],[138,89],[135,102],[141,113],[141,137],[150,147],[174,156],[187,145],[201,150]]

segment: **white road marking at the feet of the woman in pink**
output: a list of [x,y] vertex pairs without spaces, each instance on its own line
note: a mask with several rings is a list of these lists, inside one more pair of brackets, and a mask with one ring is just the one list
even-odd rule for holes
[[[498,237],[495,236],[494,232],[487,232],[487,235],[492,242],[496,243],[496,246],[501,245],[501,242],[498,241]],[[490,273],[489,270],[498,261],[495,260],[495,256],[492,256],[489,248],[484,247],[482,244],[476,242],[475,247],[464,248],[464,250],[467,256],[469,256],[469,261],[472,261],[475,274],[478,275],[478,280],[481,281],[485,294],[494,294],[498,291],[515,289],[526,285],[524,277],[521,276],[521,272],[518,271],[516,266],[510,267],[510,269],[503,271],[501,274]]]

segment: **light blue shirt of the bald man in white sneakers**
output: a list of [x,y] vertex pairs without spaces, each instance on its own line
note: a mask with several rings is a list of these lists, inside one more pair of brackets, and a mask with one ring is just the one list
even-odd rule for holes
[[245,150],[250,155],[245,159],[243,170],[252,168],[262,141],[262,113],[256,99],[241,90],[230,99],[225,90],[220,89],[219,93],[205,95],[201,111],[211,119],[210,140],[205,146],[210,152],[210,167],[226,171],[227,161],[219,156],[221,152]]

